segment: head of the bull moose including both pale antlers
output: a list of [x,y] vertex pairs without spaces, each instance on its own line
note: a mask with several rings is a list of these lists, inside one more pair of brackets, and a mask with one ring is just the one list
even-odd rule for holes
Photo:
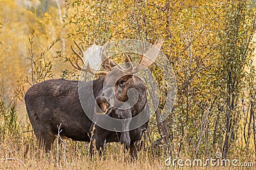
[[[78,59],[81,60],[84,66],[84,51],[79,45],[77,45],[76,41],[74,41],[74,43],[76,44],[77,48],[79,48],[81,55],[76,50],[74,50],[72,46],[71,49],[74,53],[76,53]],[[151,45],[146,51],[145,43],[143,42],[141,58],[136,66],[133,66],[131,57],[129,57],[127,53],[124,52],[126,58],[125,67],[117,64],[115,60],[109,59],[105,52],[106,46],[101,46],[100,56],[97,57],[101,58],[102,67],[106,71],[92,69],[89,62],[86,62],[86,67],[84,68],[81,67],[77,61],[76,64],[74,64],[74,62],[70,60],[72,66],[79,71],[92,74],[101,74],[105,76],[102,92],[95,98],[95,101],[99,106],[95,107],[95,113],[106,114],[110,113],[114,106],[115,108],[124,109],[136,103],[135,100],[138,100],[136,93],[130,93],[130,95],[128,93],[130,89],[136,87],[136,83],[140,80],[140,78],[138,78],[138,76],[135,74],[154,63],[159,53],[159,48],[161,48],[162,45],[163,39],[160,39],[154,43],[154,46]]]

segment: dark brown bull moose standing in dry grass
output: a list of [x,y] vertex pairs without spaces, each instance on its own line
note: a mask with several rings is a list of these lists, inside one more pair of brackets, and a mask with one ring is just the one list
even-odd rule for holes
[[[84,51],[76,42],[75,44],[81,52],[77,52],[71,46],[72,51],[83,62]],[[156,49],[159,50],[162,45],[163,39],[160,39],[156,41],[154,46],[150,45],[148,50],[145,50],[143,43],[141,59],[136,66],[132,65],[131,58],[127,54],[125,55],[127,62],[123,67],[114,60],[110,60],[104,52],[101,52],[104,70],[93,70],[89,63],[86,67],[81,67],[77,62],[74,64],[70,60],[72,66],[80,71],[99,74],[97,80],[54,79],[30,87],[25,95],[26,109],[39,145],[48,152],[59,132],[61,138],[90,142],[91,154],[94,153],[94,147],[102,153],[106,143],[120,142],[125,145],[132,157],[136,157],[141,148],[141,136],[147,130],[149,111],[147,110],[145,85],[135,73],[154,62],[145,56],[156,55],[157,57]],[[121,76],[116,78],[118,74]],[[113,83],[115,78],[117,80]],[[108,86],[111,83],[113,86]],[[90,90],[91,87],[92,90]],[[138,101],[131,107],[118,108],[109,103],[111,97],[125,103],[129,99],[130,89],[137,91],[138,98]],[[92,94],[93,99],[91,99],[90,94]],[[109,96],[106,97],[106,94]],[[85,104],[82,104],[81,99]],[[141,115],[140,113],[143,113],[143,116],[133,121],[132,118],[138,117]],[[122,130],[115,131],[115,127],[112,130],[104,129],[100,122],[104,124],[106,117],[125,120],[121,124]],[[146,118],[147,121],[135,129],[129,129],[132,124],[140,122],[141,118]],[[108,126],[111,127],[111,124],[108,123]],[[58,131],[58,127],[60,127],[61,132]]]

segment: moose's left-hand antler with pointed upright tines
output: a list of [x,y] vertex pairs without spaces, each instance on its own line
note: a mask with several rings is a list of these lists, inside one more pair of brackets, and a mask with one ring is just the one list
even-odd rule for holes
[[[76,53],[77,57],[82,61],[83,65],[84,65],[84,60],[83,60],[83,57],[84,57],[84,52],[83,52],[83,49],[81,48],[81,46],[77,45],[76,41],[74,41],[74,43],[76,44],[77,48],[79,48],[82,56],[76,51],[74,50],[73,46],[71,45],[71,50]],[[101,52],[100,52],[101,53]],[[92,73],[92,74],[102,74],[102,75],[107,75],[108,74],[108,71],[95,71],[93,70],[91,67],[90,67],[90,64],[88,62],[87,66],[84,68],[84,67],[81,67],[77,61],[76,61],[76,64],[74,64],[74,62],[72,62],[70,59],[69,59],[70,63],[72,64],[73,67],[75,67],[76,69],[80,70],[80,71],[85,71],[85,72],[88,72],[88,73]]]

